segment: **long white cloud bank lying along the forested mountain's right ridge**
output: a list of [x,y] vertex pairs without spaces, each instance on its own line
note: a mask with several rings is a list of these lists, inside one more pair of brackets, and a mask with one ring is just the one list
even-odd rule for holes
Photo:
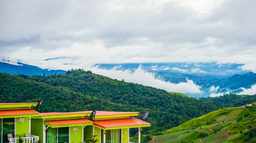
[[164,89],[168,92],[179,93],[202,93],[200,86],[196,85],[193,80],[186,79],[186,82],[171,83],[155,78],[155,74],[146,72],[141,69],[141,65],[134,71],[130,70],[116,70],[115,68],[106,70],[93,67],[92,70],[96,74],[104,75],[117,80],[124,80],[125,82],[137,83],[149,87],[155,87],[158,89]]

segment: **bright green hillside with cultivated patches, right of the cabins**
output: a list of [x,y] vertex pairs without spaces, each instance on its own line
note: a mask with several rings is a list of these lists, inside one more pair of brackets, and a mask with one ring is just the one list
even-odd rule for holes
[[153,138],[155,142],[164,143],[254,143],[255,111],[255,106],[219,109],[186,121]]

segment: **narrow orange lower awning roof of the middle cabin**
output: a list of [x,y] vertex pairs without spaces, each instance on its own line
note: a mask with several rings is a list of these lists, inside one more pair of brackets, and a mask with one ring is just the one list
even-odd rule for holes
[[45,121],[45,122],[47,122],[48,124],[51,124],[53,126],[92,123],[92,121],[90,121],[88,119],[67,119],[67,120],[54,120],[54,121]]

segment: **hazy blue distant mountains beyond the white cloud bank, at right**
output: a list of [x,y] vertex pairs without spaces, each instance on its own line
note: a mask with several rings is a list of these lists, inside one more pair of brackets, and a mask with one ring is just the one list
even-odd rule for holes
[[[100,69],[130,70],[141,69],[155,74],[166,82],[186,82],[186,78],[193,80],[201,87],[202,93],[186,93],[194,98],[209,97],[211,93],[223,95],[239,93],[243,88],[250,88],[256,84],[256,74],[242,70],[243,64],[235,63],[124,63],[124,64],[95,64]],[[215,90],[211,90],[216,88]]]

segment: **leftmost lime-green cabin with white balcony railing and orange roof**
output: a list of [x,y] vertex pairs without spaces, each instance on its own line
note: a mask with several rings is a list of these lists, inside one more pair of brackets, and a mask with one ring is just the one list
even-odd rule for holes
[[18,143],[22,138],[27,141],[38,141],[39,137],[31,134],[31,119],[39,112],[31,109],[37,103],[0,103],[0,143]]

